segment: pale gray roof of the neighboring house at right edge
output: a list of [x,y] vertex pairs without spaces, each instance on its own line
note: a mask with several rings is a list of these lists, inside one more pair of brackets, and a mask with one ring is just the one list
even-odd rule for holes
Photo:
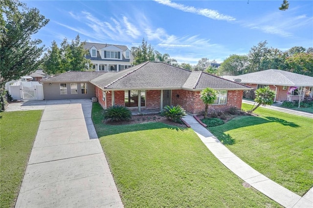
[[268,69],[239,76],[223,76],[223,78],[231,81],[241,79],[241,83],[313,86],[313,77],[278,69]]

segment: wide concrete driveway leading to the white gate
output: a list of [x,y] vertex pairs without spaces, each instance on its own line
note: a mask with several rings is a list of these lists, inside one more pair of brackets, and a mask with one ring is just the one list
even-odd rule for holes
[[8,111],[44,109],[16,208],[122,208],[91,121],[91,100],[10,104]]

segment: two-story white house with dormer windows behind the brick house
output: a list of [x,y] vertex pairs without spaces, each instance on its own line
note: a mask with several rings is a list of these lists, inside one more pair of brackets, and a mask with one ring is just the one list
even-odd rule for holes
[[86,42],[89,50],[86,59],[92,63],[94,71],[118,72],[132,66],[134,57],[126,45],[112,45]]

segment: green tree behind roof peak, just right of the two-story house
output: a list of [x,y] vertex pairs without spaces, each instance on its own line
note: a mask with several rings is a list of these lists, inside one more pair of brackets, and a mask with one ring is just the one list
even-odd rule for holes
[[131,51],[134,56],[134,65],[147,61],[155,61],[154,47],[148,44],[145,39],[142,39],[142,43],[138,47],[132,47]]

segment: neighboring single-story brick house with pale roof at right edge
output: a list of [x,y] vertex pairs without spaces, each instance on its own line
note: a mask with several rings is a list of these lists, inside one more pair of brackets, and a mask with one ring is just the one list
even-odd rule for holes
[[288,71],[268,69],[239,76],[222,77],[244,83],[254,89],[269,86],[276,92],[274,102],[299,100],[299,92],[304,88],[310,91],[310,97],[313,96],[313,77]]

